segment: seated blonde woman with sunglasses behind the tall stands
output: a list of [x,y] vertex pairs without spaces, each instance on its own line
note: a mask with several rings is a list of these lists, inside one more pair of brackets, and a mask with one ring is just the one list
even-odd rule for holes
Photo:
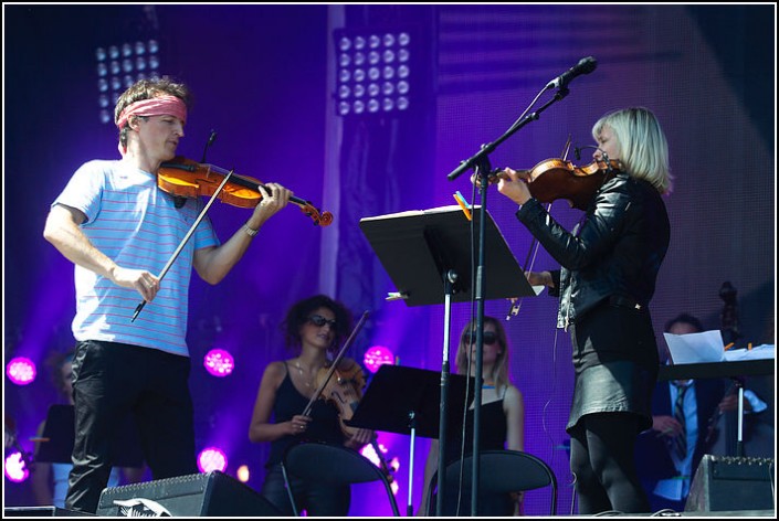
[[[475,320],[470,321],[460,334],[455,358],[459,374],[473,376],[476,371]],[[480,429],[481,450],[523,450],[525,442],[525,406],[519,390],[508,379],[508,341],[501,321],[484,317],[482,355],[482,408]],[[464,435],[464,438],[463,438]],[[473,451],[473,404],[469,407],[462,429],[448,433],[445,462],[460,459]],[[463,444],[464,439],[464,444]],[[424,467],[425,489],[419,513],[428,512],[428,488],[439,466],[439,442],[433,439]],[[457,510],[457,490],[445,490],[443,515],[471,515],[471,490],[463,490]],[[435,497],[433,497],[435,502]],[[434,510],[434,508],[433,508]],[[482,493],[478,515],[518,515],[522,513],[522,495]]]

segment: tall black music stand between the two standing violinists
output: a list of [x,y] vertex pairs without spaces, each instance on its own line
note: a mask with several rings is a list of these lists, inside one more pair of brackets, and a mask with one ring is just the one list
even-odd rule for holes
[[[469,220],[459,205],[442,206],[431,210],[401,212],[360,220],[360,230],[376,252],[385,270],[398,289],[398,298],[407,306],[444,304],[443,354],[441,363],[441,404],[439,433],[439,496],[443,497],[444,453],[446,434],[446,394],[449,385],[449,333],[452,301],[469,301],[476,295],[472,279],[472,237],[476,231],[484,230],[484,247],[489,252],[489,265],[484,266],[491,280],[501,284],[486,285],[481,289],[483,299],[515,298],[535,296],[535,291],[525,278],[506,240],[495,225],[489,212],[472,212]],[[482,215],[486,215],[482,223]],[[482,226],[483,224],[483,226]],[[486,289],[486,291],[485,291]],[[481,331],[477,331],[481,334]],[[481,345],[480,345],[481,347]],[[480,351],[481,352],[481,351]],[[481,369],[481,365],[477,364]],[[477,370],[478,370],[477,369]],[[480,375],[481,379],[481,375]],[[480,400],[474,404],[474,429],[478,428],[481,408]],[[478,461],[477,433],[474,430],[474,461]],[[474,480],[478,483],[478,480]],[[474,485],[476,487],[477,485]],[[441,501],[439,501],[441,506]],[[439,508],[440,510],[440,508]],[[441,514],[441,512],[438,512]]]

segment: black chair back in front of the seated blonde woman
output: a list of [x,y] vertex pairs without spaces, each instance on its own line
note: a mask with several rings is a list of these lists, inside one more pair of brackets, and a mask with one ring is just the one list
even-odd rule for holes
[[[519,450],[484,450],[480,453],[481,491],[493,493],[510,493],[550,487],[551,501],[549,513],[557,514],[557,478],[551,468],[541,459]],[[452,461],[446,466],[444,487],[446,490],[456,490],[460,486],[461,460]],[[471,474],[473,470],[473,456],[463,460],[463,493],[471,495]],[[428,515],[435,514],[435,493],[438,472],[433,476],[428,487]],[[470,513],[469,513],[470,514]]]

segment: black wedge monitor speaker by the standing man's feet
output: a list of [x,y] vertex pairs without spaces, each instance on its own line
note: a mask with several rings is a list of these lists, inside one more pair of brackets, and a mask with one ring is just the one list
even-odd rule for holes
[[281,512],[251,487],[213,470],[106,488],[97,515],[277,517]]

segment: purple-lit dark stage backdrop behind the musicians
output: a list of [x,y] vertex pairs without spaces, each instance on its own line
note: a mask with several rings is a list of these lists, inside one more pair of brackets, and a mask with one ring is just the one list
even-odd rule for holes
[[[15,419],[22,446],[32,449],[29,439],[56,401],[43,361],[73,344],[72,266],[42,238],[46,212],[82,162],[118,158],[116,129],[98,119],[96,46],[157,38],[160,71],[188,83],[196,96],[179,152],[199,160],[213,129],[208,162],[281,182],[335,215],[331,226],[318,228],[291,205],[266,224],[222,284],[193,278],[189,342],[198,445],[223,447],[227,472],[248,465],[249,485],[259,489],[267,447],[250,444],[246,432],[263,369],[287,357],[278,331],[287,307],[328,293],[356,317],[371,311],[350,357],[361,360],[368,347],[381,344],[400,364],[441,370],[443,306],[385,301],[394,288],[359,220],[454,204],[457,190],[472,201],[469,176],[452,182],[446,174],[497,139],[550,79],[583,56],[598,60],[597,71],[577,78],[568,97],[505,141],[492,155],[493,166],[531,168],[559,157],[569,135],[575,146],[592,145],[590,128],[603,113],[651,108],[669,137],[675,176],[666,199],[671,249],[651,307],[657,334],[682,311],[719,328],[718,291],[730,281],[738,290],[740,342],[775,343],[775,23],[772,4],[4,4],[4,360],[23,355],[39,364],[31,385],[3,381],[3,408]],[[328,46],[338,28],[411,31],[409,110],[336,116]],[[581,163],[589,159],[586,150]],[[530,236],[515,221],[514,205],[491,190],[488,209],[524,264]],[[552,214],[569,228],[580,217],[562,201]],[[211,210],[222,240],[246,216],[221,203]],[[556,266],[541,251],[534,267]],[[508,308],[503,299],[486,302],[487,315],[503,317]],[[470,312],[467,304],[453,306],[455,339]],[[568,336],[556,332],[555,321],[556,301],[544,294],[526,298],[506,327],[510,375],[525,397],[525,448],[555,469],[559,511],[566,513],[571,479],[564,426],[572,370]],[[204,371],[202,357],[212,347],[235,355],[231,376]],[[452,359],[455,349],[456,342]],[[772,429],[771,380],[751,384],[769,402]],[[402,509],[409,437],[380,433],[379,440],[400,460]],[[419,442],[414,506],[428,449],[427,439]],[[755,445],[752,455],[772,456],[773,445],[773,438],[767,449]],[[528,493],[528,514],[544,513],[545,495]],[[389,513],[369,498],[356,493],[352,513]],[[29,485],[6,479],[3,500],[32,504]]]

